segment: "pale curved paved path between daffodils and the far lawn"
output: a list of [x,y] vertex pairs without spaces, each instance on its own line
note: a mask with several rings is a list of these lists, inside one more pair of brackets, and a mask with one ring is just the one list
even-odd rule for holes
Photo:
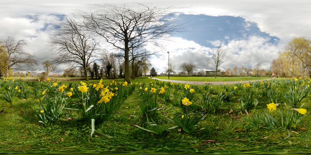
[[[205,84],[209,84],[209,85],[224,85],[226,84],[237,84],[240,83],[240,81],[222,81],[222,82],[209,82],[207,81],[207,83],[202,82],[202,81],[181,81],[181,80],[173,80],[173,79],[160,79],[160,78],[152,78],[152,79],[156,79],[159,81],[167,81],[167,82],[174,82],[174,83],[187,83],[187,84],[199,84],[199,85],[205,85]],[[275,79],[275,78],[267,78],[264,80],[268,80],[268,79]],[[261,81],[261,79],[257,79],[257,80],[247,80],[247,81],[242,81],[241,83],[250,83],[250,82],[255,82],[255,81]]]

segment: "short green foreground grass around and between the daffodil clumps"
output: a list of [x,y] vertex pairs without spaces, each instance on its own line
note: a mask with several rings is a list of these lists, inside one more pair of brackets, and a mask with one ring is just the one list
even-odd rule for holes
[[[88,82],[98,82],[90,80]],[[117,81],[122,81],[119,79]],[[149,78],[137,78],[133,82],[154,81]],[[111,80],[104,80],[107,85]],[[156,82],[156,81],[154,81]],[[64,82],[79,83],[79,82]],[[160,83],[160,82],[159,82]],[[169,83],[166,83],[169,86]],[[166,93],[172,98],[164,102],[159,98],[159,111],[157,116],[158,124],[173,126],[167,118],[173,117],[175,112],[181,111],[179,107],[173,106],[173,96],[183,91],[169,86]],[[194,86],[191,86],[194,87]],[[203,86],[198,86],[202,88]],[[232,87],[232,86],[231,86]],[[141,100],[138,88],[121,104],[119,110],[112,115],[112,119],[95,128],[113,138],[107,138],[100,134],[90,137],[91,125],[78,118],[72,120],[62,119],[57,124],[44,127],[38,123],[34,112],[39,110],[36,99],[18,99],[16,105],[0,99],[0,109],[5,109],[0,114],[0,153],[249,153],[261,154],[262,152],[302,152],[310,151],[311,145],[311,116],[309,113],[303,118],[297,128],[299,134],[283,140],[287,132],[280,130],[256,129],[249,125],[252,113],[265,110],[266,97],[259,98],[259,108],[251,112],[240,110],[239,98],[234,96],[225,103],[217,113],[207,113],[206,118],[199,123],[199,128],[205,127],[200,132],[186,134],[179,132],[177,128],[170,130],[164,136],[153,135],[141,130],[134,124],[143,125],[146,121],[138,107]],[[222,86],[213,86],[216,92],[223,90]],[[281,90],[284,93],[284,89]],[[5,92],[0,88],[0,95]],[[204,93],[204,92],[203,92]],[[195,92],[191,112],[200,111],[200,95]],[[74,97],[74,96],[72,96]],[[281,103],[284,99],[281,98]],[[74,98],[72,98],[74,100]],[[307,96],[302,101],[306,109],[311,108],[311,98]],[[229,114],[230,109],[233,112]],[[67,110],[70,117],[75,112]]]

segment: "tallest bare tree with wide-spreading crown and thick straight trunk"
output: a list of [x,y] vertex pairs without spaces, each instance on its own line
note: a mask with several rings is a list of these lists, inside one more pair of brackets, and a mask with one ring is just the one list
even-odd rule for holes
[[106,42],[124,52],[124,80],[130,82],[129,51],[177,31],[178,25],[163,18],[167,14],[166,10],[142,4],[137,8],[105,5],[97,12],[85,13],[83,17],[89,31],[97,33]]

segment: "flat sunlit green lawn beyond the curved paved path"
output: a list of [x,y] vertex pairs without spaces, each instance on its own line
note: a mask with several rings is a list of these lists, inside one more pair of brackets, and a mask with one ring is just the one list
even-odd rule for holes
[[[168,77],[155,77],[160,79],[168,79]],[[266,79],[270,77],[170,77],[173,80],[181,81],[209,81],[209,82],[218,82],[218,81],[245,81],[245,80],[256,80],[256,79]]]

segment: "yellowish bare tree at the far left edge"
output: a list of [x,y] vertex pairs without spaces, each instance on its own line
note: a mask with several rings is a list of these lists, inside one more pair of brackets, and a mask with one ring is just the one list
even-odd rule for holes
[[5,70],[6,77],[9,76],[10,69],[22,70],[21,65],[36,64],[35,56],[25,52],[24,46],[26,42],[24,40],[16,40],[14,37],[8,37],[2,42],[0,48],[0,67]]

